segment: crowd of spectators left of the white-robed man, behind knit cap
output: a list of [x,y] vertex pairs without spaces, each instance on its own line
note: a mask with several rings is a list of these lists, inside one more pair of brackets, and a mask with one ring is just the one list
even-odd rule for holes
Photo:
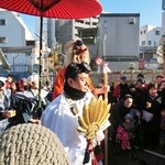
[[[51,99],[47,97],[52,89],[43,84],[41,102],[44,109]],[[41,116],[38,106],[38,75],[14,79],[13,75],[0,78],[0,132],[18,123],[34,122]],[[38,120],[40,121],[40,120]]]

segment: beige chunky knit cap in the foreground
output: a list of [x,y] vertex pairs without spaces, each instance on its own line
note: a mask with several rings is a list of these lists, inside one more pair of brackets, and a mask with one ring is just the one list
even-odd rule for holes
[[69,165],[69,161],[56,134],[26,123],[0,136],[0,165]]

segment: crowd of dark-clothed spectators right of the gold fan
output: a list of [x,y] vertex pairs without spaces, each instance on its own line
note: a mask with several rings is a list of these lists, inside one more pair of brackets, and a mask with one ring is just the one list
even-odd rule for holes
[[162,75],[155,77],[154,82],[145,82],[143,74],[139,74],[134,84],[127,81],[127,76],[121,75],[121,81],[111,91],[113,103],[110,117],[110,132],[116,144],[118,127],[128,129],[127,116],[130,113],[128,123],[136,119],[139,123],[138,145],[141,148],[165,148],[165,79]]

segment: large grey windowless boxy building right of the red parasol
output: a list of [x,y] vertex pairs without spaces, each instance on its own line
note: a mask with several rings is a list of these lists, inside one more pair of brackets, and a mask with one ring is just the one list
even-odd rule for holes
[[139,13],[102,13],[98,30],[98,56],[111,70],[139,66]]

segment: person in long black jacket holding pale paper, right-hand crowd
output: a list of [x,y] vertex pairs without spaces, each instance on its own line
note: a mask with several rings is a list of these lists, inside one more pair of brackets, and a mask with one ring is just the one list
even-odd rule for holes
[[154,84],[148,84],[147,96],[143,100],[142,127],[144,131],[144,148],[155,150],[158,145],[162,99]]

